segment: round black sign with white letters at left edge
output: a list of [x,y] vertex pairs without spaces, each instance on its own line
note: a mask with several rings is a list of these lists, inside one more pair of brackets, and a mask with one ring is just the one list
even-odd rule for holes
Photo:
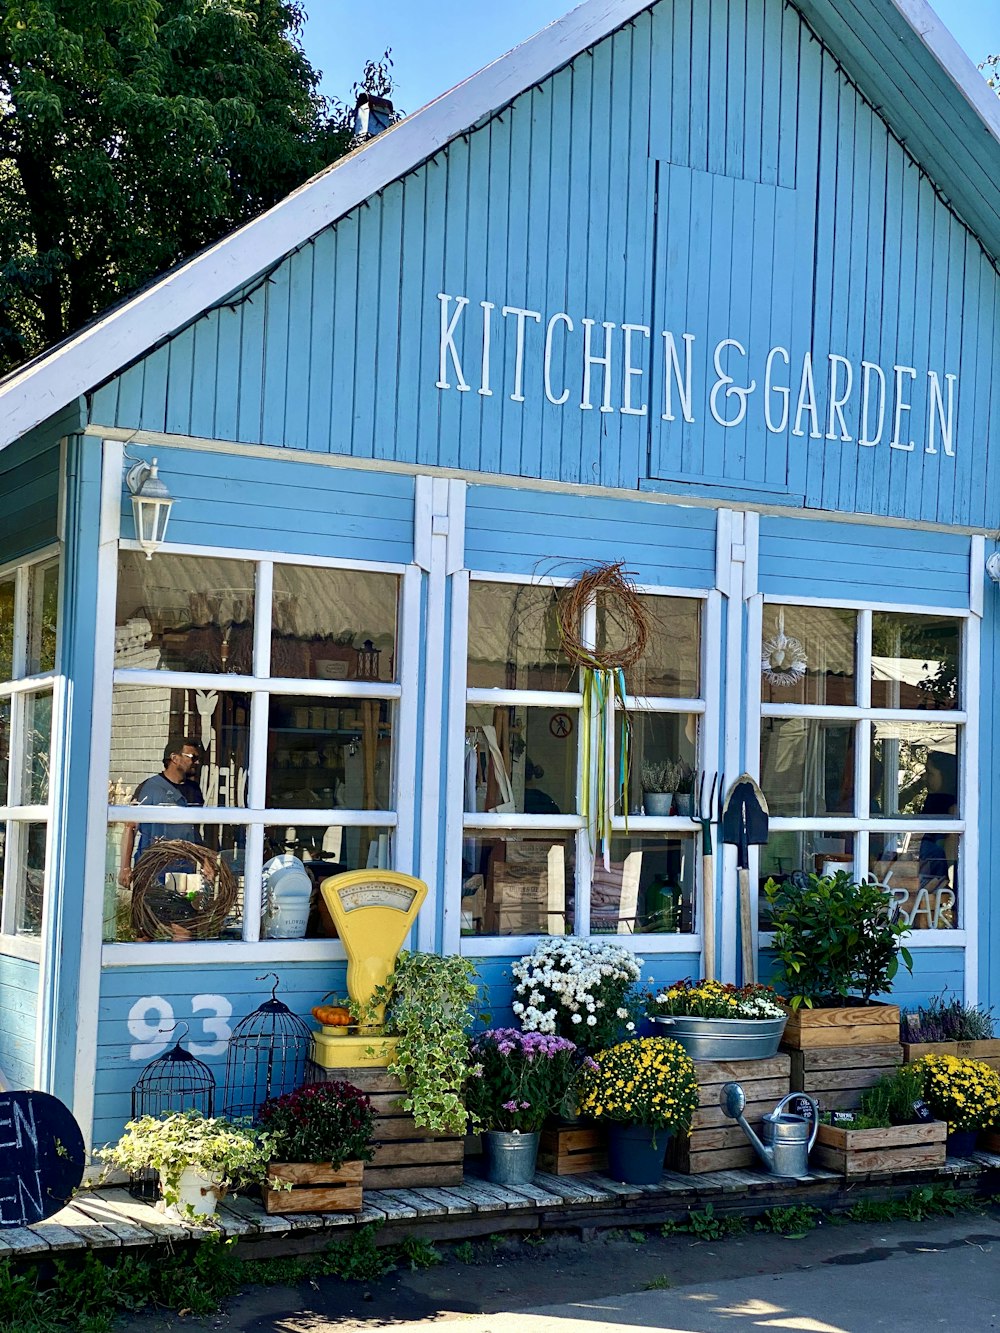
[[83,1134],[47,1092],[0,1094],[0,1229],[31,1226],[64,1208],[83,1180]]

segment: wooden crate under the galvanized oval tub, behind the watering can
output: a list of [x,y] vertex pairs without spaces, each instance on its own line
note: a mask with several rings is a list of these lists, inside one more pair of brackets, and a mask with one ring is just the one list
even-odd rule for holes
[[760,1120],[789,1092],[791,1057],[769,1060],[696,1060],[699,1106],[691,1122],[691,1137],[675,1137],[667,1150],[671,1170],[697,1176],[708,1170],[739,1170],[757,1165],[759,1158],[735,1120],[719,1105],[723,1084],[737,1082],[747,1094],[744,1112],[760,1132]]

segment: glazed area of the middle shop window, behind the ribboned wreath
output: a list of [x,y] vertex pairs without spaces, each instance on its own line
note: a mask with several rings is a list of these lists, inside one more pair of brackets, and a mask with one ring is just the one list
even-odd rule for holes
[[[645,593],[653,632],[629,672],[632,746],[608,702],[613,837],[595,854],[583,810],[584,701],[560,648],[557,588],[469,585],[461,933],[692,934],[692,786],[704,744],[704,604]],[[600,649],[623,629],[600,600],[584,615]],[[648,946],[655,941],[647,941]]]

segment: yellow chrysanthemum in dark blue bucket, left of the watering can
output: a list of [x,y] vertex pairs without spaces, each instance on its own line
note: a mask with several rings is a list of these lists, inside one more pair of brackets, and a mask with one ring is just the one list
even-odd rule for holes
[[672,1134],[687,1134],[699,1104],[695,1062],[669,1037],[600,1050],[584,1070],[580,1110],[608,1125],[608,1174],[655,1185]]

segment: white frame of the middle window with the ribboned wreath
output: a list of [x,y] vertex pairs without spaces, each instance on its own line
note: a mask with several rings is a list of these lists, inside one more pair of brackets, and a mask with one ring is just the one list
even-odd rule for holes
[[[531,689],[484,689],[468,686],[468,625],[469,625],[469,587],[473,583],[517,584],[541,588],[565,588],[572,584],[571,579],[555,576],[531,576],[497,573],[493,571],[463,571],[455,577],[452,591],[452,653],[451,653],[451,680],[449,680],[449,734],[448,734],[448,770],[452,780],[447,792],[445,817],[445,865],[444,865],[444,950],[445,953],[461,953],[469,957],[508,957],[521,953],[531,953],[541,938],[551,938],[544,934],[461,934],[461,841],[468,833],[479,834],[484,832],[517,832],[536,830],[545,832],[572,832],[576,837],[576,897],[573,913],[573,930],[577,937],[587,938],[591,934],[591,881],[593,872],[595,850],[591,848],[588,829],[581,814],[496,814],[465,810],[464,789],[464,746],[465,746],[465,708],[467,704],[517,704],[523,708],[564,708],[575,710],[577,716],[583,709],[583,694],[580,690],[531,690]],[[701,603],[701,697],[700,698],[668,698],[660,696],[641,696],[629,700],[629,705],[644,712],[659,713],[696,713],[700,717],[699,726],[699,764],[709,770],[713,764],[707,762],[707,756],[719,753],[720,724],[721,724],[721,696],[719,708],[708,706],[708,682],[719,681],[721,670],[721,595],[709,588],[677,588],[661,584],[639,584],[636,592],[657,597],[683,597]],[[596,635],[596,607],[592,604],[584,613],[581,636],[584,643],[593,644]],[[716,692],[717,693],[717,692]],[[613,700],[608,701],[608,734],[613,737]],[[580,805],[583,788],[583,756],[580,728],[577,726],[577,809]],[[615,746],[609,746],[608,764],[613,765]],[[695,793],[697,798],[697,793]],[[695,812],[696,813],[696,812]],[[700,825],[692,814],[669,816],[657,818],[653,816],[636,814],[625,820],[624,816],[612,818],[612,832],[628,833],[687,833],[692,838],[697,834]],[[697,842],[695,842],[695,856],[697,857]],[[615,944],[641,954],[695,954],[703,950],[701,921],[697,902],[700,897],[700,864],[696,864],[695,900],[696,929],[687,934],[616,934],[613,937],[601,933],[597,938],[613,938]],[[569,934],[571,932],[567,932]]]

